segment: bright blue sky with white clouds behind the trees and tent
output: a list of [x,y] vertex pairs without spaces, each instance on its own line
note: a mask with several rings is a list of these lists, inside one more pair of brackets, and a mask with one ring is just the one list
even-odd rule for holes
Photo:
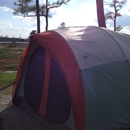
[[[0,36],[28,38],[32,30],[37,29],[36,17],[21,17],[13,15],[13,9],[17,8],[14,2],[17,0],[0,0]],[[53,2],[54,0],[50,0]],[[112,0],[107,0],[111,2]],[[39,0],[40,4],[44,0]],[[33,0],[35,4],[35,0]],[[105,13],[112,11],[108,5],[104,6]],[[57,29],[62,22],[68,26],[98,26],[96,13],[96,0],[71,0],[67,5],[53,8],[49,18],[49,30]],[[120,10],[122,17],[117,18],[117,25],[123,29],[121,33],[130,34],[130,0]],[[40,18],[41,32],[45,31],[45,18]],[[106,22],[107,28],[113,30],[113,21]]]

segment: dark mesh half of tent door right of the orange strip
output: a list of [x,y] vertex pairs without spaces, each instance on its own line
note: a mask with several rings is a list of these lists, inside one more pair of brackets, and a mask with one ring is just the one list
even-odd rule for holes
[[51,59],[46,118],[56,124],[64,123],[69,118],[70,109],[71,103],[66,80],[59,66]]

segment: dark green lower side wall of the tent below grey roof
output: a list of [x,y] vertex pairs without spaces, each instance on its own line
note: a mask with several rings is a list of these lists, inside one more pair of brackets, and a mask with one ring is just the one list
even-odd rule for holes
[[[82,71],[85,95],[85,128],[128,127],[130,116],[130,68],[127,62],[114,62]],[[85,87],[87,86],[87,87]],[[93,116],[92,116],[93,115]],[[123,125],[123,123],[126,123]],[[122,124],[121,124],[122,123]],[[109,128],[110,129],[110,128]]]

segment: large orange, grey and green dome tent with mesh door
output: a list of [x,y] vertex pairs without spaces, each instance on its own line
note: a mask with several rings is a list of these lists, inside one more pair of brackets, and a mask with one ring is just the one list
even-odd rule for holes
[[95,27],[35,34],[24,51],[13,103],[71,130],[130,128],[130,37]]

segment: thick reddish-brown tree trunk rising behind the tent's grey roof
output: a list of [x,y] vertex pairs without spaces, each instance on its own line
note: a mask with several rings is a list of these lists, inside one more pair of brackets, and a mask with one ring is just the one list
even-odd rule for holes
[[105,27],[106,28],[103,0],[96,0],[96,6],[97,6],[98,25],[99,25],[99,27]]

